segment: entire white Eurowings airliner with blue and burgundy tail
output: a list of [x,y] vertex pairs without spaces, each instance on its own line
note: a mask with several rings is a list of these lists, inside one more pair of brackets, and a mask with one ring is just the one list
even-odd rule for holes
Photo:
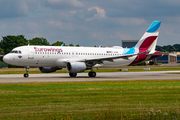
[[95,77],[93,68],[115,68],[137,64],[163,55],[155,51],[161,22],[154,21],[139,42],[132,48],[114,47],[65,47],[65,46],[20,46],[3,57],[4,62],[39,67],[40,72],[50,73],[66,68],[70,77],[90,69],[89,77]]

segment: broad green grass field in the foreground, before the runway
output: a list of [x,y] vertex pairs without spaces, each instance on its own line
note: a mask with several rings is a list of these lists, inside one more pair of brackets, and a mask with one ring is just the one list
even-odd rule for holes
[[0,84],[0,119],[179,119],[180,80]]

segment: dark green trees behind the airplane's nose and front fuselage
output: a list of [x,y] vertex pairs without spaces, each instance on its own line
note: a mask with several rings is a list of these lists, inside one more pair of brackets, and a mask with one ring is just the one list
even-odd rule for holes
[[[0,54],[7,54],[9,53],[13,48],[23,45],[51,45],[51,46],[74,46],[73,44],[66,45],[64,42],[55,42],[53,44],[50,44],[46,38],[33,38],[27,40],[24,35],[17,35],[17,36],[3,36],[2,40],[0,41]],[[76,45],[77,47],[79,44]]]

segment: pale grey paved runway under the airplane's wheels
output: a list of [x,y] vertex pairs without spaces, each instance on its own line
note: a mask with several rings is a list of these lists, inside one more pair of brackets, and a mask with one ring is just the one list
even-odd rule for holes
[[76,78],[70,78],[68,73],[30,74],[29,78],[22,74],[4,74],[0,75],[0,83],[180,80],[180,74],[168,74],[173,72],[180,71],[103,72],[97,73],[95,78],[88,77],[88,73],[78,73]]

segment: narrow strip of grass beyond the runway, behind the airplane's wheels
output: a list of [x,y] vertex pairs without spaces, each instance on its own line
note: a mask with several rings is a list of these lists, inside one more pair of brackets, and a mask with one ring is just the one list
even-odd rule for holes
[[[150,68],[150,71],[177,71],[180,70],[180,66],[126,66],[122,68],[115,68],[115,69],[94,69],[95,72],[121,72],[121,69],[126,68],[128,72],[140,72],[144,71],[143,68]],[[85,72],[89,72],[90,70],[86,70]],[[25,68],[3,68],[0,69],[0,74],[24,74]],[[41,72],[38,68],[30,68],[29,74],[40,74]],[[68,73],[68,71],[64,68],[62,70],[57,70],[54,73]]]

